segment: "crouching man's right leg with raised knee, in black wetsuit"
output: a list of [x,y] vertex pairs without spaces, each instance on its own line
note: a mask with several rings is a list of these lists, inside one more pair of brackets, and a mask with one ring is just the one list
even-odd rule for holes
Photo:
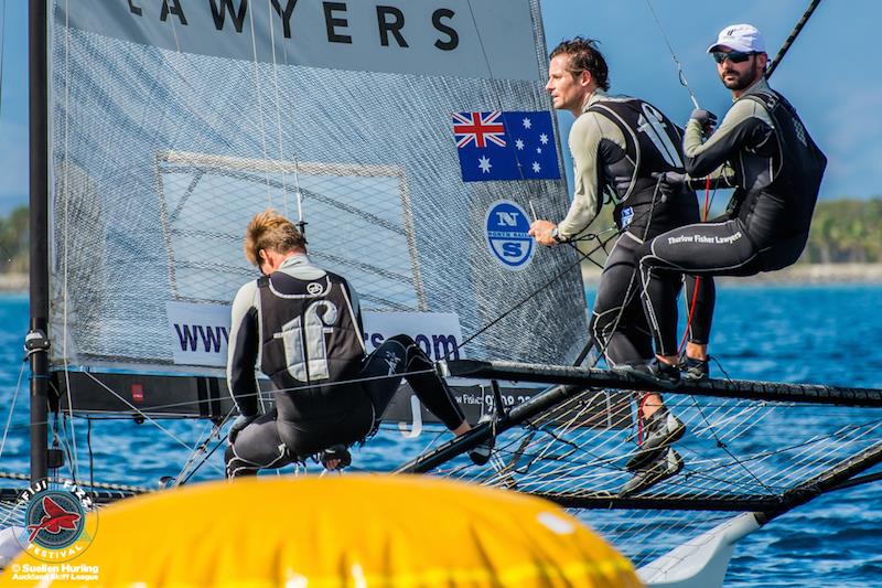
[[467,430],[462,408],[447,383],[434,371],[429,356],[408,335],[384,341],[365,361],[361,377],[373,378],[364,382],[363,387],[374,403],[377,419],[391,403],[401,377],[405,377],[426,408],[450,430],[464,432],[463,426]]

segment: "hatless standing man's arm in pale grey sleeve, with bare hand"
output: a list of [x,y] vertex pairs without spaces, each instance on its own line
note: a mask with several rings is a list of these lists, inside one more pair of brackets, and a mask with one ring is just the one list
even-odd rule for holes
[[[549,221],[536,221],[530,227],[530,235],[541,245],[555,245],[561,240],[576,237],[590,225],[603,205],[600,193],[598,150],[602,133],[599,115],[585,113],[573,122],[570,130],[569,146],[573,159],[574,192],[567,216],[557,224]],[[552,231],[557,228],[557,239]]]

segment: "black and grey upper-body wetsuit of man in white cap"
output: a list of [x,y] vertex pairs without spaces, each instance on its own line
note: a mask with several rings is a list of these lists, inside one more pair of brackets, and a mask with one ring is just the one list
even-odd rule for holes
[[731,164],[738,188],[728,210],[755,246],[808,233],[826,158],[789,103],[765,79],[734,101],[707,142],[700,124],[689,120],[684,154],[692,178]]

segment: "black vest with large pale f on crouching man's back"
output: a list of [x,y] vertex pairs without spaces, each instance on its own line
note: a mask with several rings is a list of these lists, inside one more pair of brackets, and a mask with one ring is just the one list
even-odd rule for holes
[[330,384],[355,377],[365,352],[346,280],[331,272],[301,280],[277,271],[258,286],[260,370],[277,389],[320,400],[340,388]]

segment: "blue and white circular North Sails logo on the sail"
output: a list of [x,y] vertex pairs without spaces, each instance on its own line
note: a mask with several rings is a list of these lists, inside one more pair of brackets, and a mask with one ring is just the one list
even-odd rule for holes
[[484,218],[487,246],[494,257],[507,269],[523,269],[536,249],[527,212],[514,202],[494,202]]

